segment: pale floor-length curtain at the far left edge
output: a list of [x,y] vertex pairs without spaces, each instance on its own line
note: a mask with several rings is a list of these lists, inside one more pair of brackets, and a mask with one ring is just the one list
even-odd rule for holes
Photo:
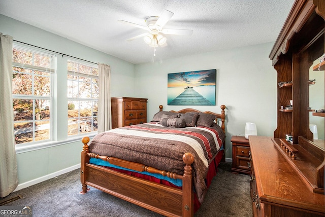
[[12,42],[0,32],[0,197],[18,185],[12,101]]

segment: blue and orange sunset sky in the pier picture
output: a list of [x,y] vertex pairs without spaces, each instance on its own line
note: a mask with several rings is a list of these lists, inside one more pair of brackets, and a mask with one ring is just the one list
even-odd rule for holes
[[216,69],[168,74],[168,87],[212,86],[216,82]]

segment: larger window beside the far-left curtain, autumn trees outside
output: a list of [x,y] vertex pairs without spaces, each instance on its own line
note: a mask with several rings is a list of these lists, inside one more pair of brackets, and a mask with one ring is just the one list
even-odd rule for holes
[[50,140],[55,56],[13,45],[12,61],[15,142]]

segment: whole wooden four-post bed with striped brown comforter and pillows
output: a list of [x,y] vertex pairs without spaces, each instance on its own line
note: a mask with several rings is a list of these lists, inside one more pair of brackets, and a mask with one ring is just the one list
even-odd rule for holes
[[91,186],[165,216],[193,216],[224,161],[220,107],[216,114],[160,105],[149,123],[99,133],[89,145],[84,137],[81,193]]

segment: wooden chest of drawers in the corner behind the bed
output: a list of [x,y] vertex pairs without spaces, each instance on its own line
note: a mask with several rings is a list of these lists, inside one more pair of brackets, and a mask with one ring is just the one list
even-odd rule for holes
[[147,122],[145,98],[111,97],[112,129]]

